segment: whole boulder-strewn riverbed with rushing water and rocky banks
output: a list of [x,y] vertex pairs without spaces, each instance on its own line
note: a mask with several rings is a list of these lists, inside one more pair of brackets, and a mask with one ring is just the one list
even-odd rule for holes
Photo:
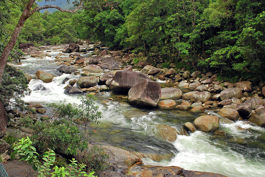
[[[112,165],[99,176],[123,176],[128,169],[133,176],[206,175],[187,170],[264,174],[263,83],[232,84],[217,81],[211,72],[162,69],[128,49],[109,51],[96,44],[25,52],[28,55],[17,67],[32,89],[25,98],[36,108],[32,119],[49,116],[45,103],[77,102],[77,94],[85,93],[98,98],[104,118],[99,126],[91,125],[99,133],[93,138],[111,144],[105,147],[113,155]],[[15,124],[21,114],[6,111]]]

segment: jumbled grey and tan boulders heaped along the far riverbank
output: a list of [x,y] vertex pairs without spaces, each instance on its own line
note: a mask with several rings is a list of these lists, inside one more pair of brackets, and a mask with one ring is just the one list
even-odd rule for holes
[[[80,56],[90,51],[94,55]],[[255,87],[250,81],[232,84],[218,80],[218,75],[212,72],[175,70],[174,64],[170,64],[169,69],[162,68],[161,64],[155,67],[142,54],[137,55],[129,49],[109,51],[93,42],[70,44],[62,52],[55,57],[55,62],[62,65],[58,71],[82,76],[68,81],[65,94],[96,94],[112,90],[127,94],[127,101],[135,106],[158,106],[197,114],[213,109],[217,113],[216,116],[199,116],[193,122],[185,123],[184,127],[190,132],[196,129],[204,132],[216,130],[219,126],[217,116],[231,121],[247,119],[258,126],[265,125],[263,83]],[[69,53],[69,57],[64,53]],[[139,71],[133,67],[142,69]],[[100,73],[104,74],[95,75]],[[31,79],[29,74],[25,75]],[[51,82],[54,76],[37,71],[36,77],[43,82]],[[169,87],[161,88],[158,81]]]

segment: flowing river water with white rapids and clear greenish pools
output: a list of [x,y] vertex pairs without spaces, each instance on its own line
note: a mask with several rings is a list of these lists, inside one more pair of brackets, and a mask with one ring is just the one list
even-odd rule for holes
[[[61,75],[56,71],[61,65],[51,61],[58,53],[58,50],[52,50],[49,53],[51,57],[44,59],[28,56],[22,65],[18,65],[29,74],[42,70],[56,76],[51,83],[32,79],[29,88],[35,91],[26,96],[25,101],[45,105],[65,99],[79,103],[77,96],[64,94],[68,81],[65,84],[62,81],[66,77],[77,79],[80,76]],[[160,83],[162,87],[165,86],[163,81]],[[92,141],[110,143],[138,153],[146,164],[180,166],[185,170],[215,172],[226,176],[265,176],[265,128],[221,118],[219,129],[225,131],[226,136],[201,131],[186,136],[187,132],[183,130],[185,122],[193,121],[200,115],[218,115],[210,110],[198,115],[173,109],[138,108],[130,106],[122,99],[123,96],[126,95],[115,95],[112,91],[96,94],[103,119],[99,125],[91,125],[97,131],[97,135],[91,137]],[[158,124],[171,126],[182,135],[178,135],[173,143],[165,141],[158,135]]]

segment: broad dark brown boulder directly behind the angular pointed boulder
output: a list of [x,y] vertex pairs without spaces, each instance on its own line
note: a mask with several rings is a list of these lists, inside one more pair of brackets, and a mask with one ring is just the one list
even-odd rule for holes
[[113,80],[109,84],[113,91],[127,92],[136,84],[145,79],[150,79],[146,74],[135,71],[117,71]]

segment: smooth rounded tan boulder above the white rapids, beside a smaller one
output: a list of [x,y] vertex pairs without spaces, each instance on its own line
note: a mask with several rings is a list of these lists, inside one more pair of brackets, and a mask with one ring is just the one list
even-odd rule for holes
[[219,118],[216,116],[200,116],[194,120],[194,125],[199,131],[209,132],[219,127]]

